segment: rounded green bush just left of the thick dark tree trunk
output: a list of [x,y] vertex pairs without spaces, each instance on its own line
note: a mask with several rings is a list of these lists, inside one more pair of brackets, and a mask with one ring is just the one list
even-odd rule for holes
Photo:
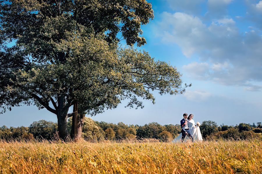
[[37,122],[33,122],[29,126],[29,133],[33,134],[35,138],[43,138],[43,139],[52,139],[54,134],[57,131],[57,123],[39,120]]

